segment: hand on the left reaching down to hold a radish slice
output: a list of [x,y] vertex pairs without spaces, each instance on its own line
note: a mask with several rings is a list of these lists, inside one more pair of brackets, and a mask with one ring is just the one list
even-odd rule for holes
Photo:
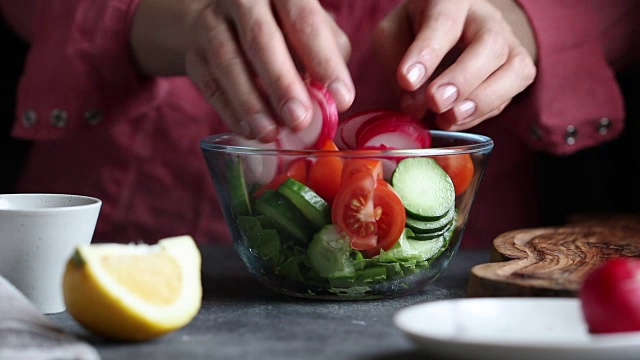
[[301,73],[325,84],[339,110],[351,106],[350,51],[316,0],[211,0],[193,19],[185,66],[232,131],[268,142],[312,117]]

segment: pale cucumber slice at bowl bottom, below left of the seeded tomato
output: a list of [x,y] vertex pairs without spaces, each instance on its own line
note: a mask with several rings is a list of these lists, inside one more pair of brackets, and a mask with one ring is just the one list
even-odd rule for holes
[[338,232],[335,225],[326,225],[317,232],[307,250],[309,265],[327,279],[353,277],[356,271],[351,258],[349,238]]

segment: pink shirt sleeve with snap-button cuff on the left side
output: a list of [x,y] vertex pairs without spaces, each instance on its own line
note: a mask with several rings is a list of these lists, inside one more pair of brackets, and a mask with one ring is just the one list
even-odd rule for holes
[[0,1],[31,44],[13,135],[59,138],[152,106],[158,81],[138,73],[129,48],[138,0]]

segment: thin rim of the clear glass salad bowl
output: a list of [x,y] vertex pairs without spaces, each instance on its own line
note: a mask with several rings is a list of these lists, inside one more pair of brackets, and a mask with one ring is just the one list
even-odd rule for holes
[[230,138],[233,134],[226,132],[215,135],[208,135],[200,141],[200,147],[207,151],[218,151],[231,154],[244,154],[244,155],[291,155],[291,156],[345,156],[345,157],[371,157],[374,155],[386,155],[386,156],[437,156],[437,155],[452,155],[452,154],[473,154],[487,152],[493,149],[493,140],[485,135],[468,133],[468,132],[453,132],[444,130],[429,130],[432,136],[441,137],[445,139],[456,139],[462,141],[468,141],[468,144],[444,146],[436,148],[424,148],[424,149],[358,149],[358,150],[316,150],[316,149],[269,149],[269,148],[257,148],[249,146],[237,146],[222,144],[221,141]]

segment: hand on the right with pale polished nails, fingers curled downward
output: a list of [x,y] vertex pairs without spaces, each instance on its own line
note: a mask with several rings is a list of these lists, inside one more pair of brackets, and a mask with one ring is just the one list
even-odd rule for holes
[[513,0],[408,0],[380,23],[376,42],[403,110],[435,113],[446,130],[499,114],[536,74],[533,32]]

